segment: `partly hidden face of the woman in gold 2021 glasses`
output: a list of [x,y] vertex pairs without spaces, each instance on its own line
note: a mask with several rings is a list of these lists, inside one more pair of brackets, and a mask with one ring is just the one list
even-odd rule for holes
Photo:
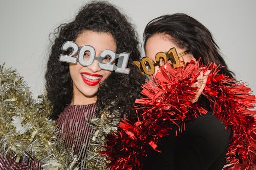
[[[146,57],[151,58],[153,62],[156,62],[156,54],[158,52],[165,52],[167,53],[170,48],[175,47],[178,54],[185,52],[187,49],[178,47],[174,41],[172,40],[172,37],[170,37],[167,34],[154,34],[150,38],[147,39],[145,42],[145,54]],[[190,62],[190,60],[195,60],[194,56],[190,53],[180,57],[180,61],[184,61],[185,63]],[[163,60],[160,60],[160,65]],[[163,63],[162,63],[163,64]],[[155,66],[155,72],[156,74],[159,66]]]

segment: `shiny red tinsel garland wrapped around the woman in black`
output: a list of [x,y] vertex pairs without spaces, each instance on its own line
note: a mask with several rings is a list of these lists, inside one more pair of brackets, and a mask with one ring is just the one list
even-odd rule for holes
[[118,132],[107,137],[106,151],[102,154],[111,161],[111,169],[142,169],[150,147],[161,152],[160,139],[174,126],[178,126],[179,131],[185,130],[185,120],[207,113],[199,102],[189,102],[195,98],[194,83],[200,73],[207,70],[211,73],[202,95],[209,100],[214,114],[232,129],[224,169],[254,168],[255,111],[249,110],[255,103],[252,91],[244,83],[219,74],[216,64],[203,66],[190,62],[179,68],[166,64],[143,85],[142,94],[147,98],[136,100],[142,114],[133,122],[123,119]]

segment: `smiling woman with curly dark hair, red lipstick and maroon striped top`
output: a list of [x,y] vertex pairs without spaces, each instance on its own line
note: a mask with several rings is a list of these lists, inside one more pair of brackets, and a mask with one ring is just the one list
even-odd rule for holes
[[[101,1],[83,6],[73,21],[61,24],[51,35],[54,36],[54,42],[45,74],[47,98],[53,107],[51,118],[59,128],[60,139],[78,156],[77,167],[86,169],[88,145],[94,132],[91,119],[100,117],[102,110],[118,111],[119,118],[130,116],[135,99],[140,94],[144,76],[133,64],[134,60],[140,58],[138,36],[124,14],[108,2]],[[88,50],[82,54],[83,61],[93,56],[92,63],[83,66],[80,61],[60,62],[61,54],[71,53],[72,48],[62,50],[66,41],[73,41],[79,46],[79,56],[84,46],[94,48],[95,54]],[[115,55],[129,53],[125,66],[130,73],[102,69],[100,64],[111,62],[113,57],[107,54],[100,60],[105,50]],[[75,57],[78,61],[78,54]],[[120,68],[119,60],[121,64],[125,62],[119,57],[111,64]],[[42,168],[33,161],[24,163],[24,166],[21,163],[20,166],[14,164],[10,165],[12,169]],[[0,169],[2,167],[6,166],[1,163]]]

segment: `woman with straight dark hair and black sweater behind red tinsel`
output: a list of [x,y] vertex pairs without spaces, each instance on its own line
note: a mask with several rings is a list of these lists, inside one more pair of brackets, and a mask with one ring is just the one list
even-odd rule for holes
[[[178,54],[183,53],[179,55],[180,61],[188,63],[190,60],[200,59],[204,65],[214,62],[222,66],[220,73],[232,77],[232,72],[227,68],[209,30],[186,14],[163,15],[151,20],[144,30],[143,38],[145,54],[153,62],[156,62],[158,52],[168,52],[175,47]],[[160,66],[164,64],[162,62],[160,60]],[[158,67],[155,67],[155,74]],[[198,88],[202,92],[204,84],[200,83]],[[226,130],[225,125],[214,115],[209,101],[200,95],[201,92],[193,102],[206,106],[208,113],[185,122],[185,131],[177,137],[174,133],[164,137],[162,153],[153,151],[148,156],[144,169],[223,168],[230,130]]]

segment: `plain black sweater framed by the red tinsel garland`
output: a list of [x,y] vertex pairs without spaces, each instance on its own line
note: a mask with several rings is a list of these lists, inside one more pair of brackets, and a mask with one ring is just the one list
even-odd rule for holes
[[[175,131],[175,130],[174,130]],[[145,170],[221,170],[225,164],[230,130],[208,112],[186,123],[178,136],[162,139],[162,153],[152,151],[144,164]]]

